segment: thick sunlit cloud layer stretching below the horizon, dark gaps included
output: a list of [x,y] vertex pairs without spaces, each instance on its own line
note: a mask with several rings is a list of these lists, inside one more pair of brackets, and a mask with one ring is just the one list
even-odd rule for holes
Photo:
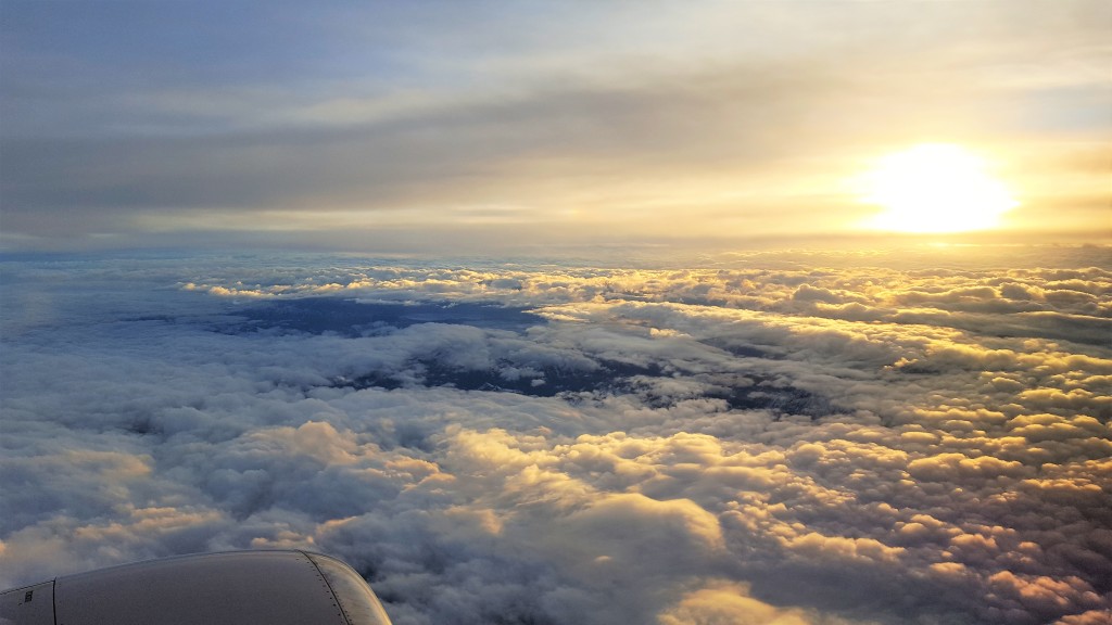
[[304,547],[401,625],[1106,623],[1109,250],[943,256],[7,260],[0,585]]

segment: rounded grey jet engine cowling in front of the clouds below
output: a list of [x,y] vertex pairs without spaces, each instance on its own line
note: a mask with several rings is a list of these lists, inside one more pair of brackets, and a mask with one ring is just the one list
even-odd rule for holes
[[0,625],[390,625],[350,566],[299,550],[126,564],[0,593]]

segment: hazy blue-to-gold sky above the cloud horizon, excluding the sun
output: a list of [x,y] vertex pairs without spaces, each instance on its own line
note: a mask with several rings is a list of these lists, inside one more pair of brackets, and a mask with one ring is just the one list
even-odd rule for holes
[[1110,237],[1103,0],[0,11],[0,249],[841,240],[920,143],[993,240]]

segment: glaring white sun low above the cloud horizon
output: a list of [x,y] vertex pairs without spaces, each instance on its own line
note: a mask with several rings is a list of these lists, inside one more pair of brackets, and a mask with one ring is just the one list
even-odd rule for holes
[[884,210],[864,225],[915,234],[996,228],[1019,202],[984,168],[982,159],[950,143],[923,143],[884,157],[864,176],[861,197]]

